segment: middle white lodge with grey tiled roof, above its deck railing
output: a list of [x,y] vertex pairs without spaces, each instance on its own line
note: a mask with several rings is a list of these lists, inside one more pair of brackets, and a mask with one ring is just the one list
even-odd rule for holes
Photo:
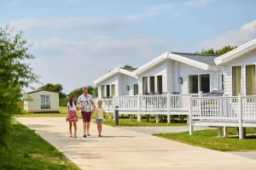
[[223,89],[218,55],[166,53],[136,71],[139,94],[198,94]]

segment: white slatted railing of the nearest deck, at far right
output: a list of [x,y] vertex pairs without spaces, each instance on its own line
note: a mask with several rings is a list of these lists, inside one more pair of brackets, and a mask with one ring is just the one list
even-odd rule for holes
[[192,119],[256,119],[256,96],[191,98]]

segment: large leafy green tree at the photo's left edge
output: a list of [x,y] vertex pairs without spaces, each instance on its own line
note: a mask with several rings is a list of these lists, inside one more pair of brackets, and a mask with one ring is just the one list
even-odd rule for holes
[[0,27],[0,147],[6,144],[12,116],[22,113],[23,108],[18,105],[22,88],[32,88],[30,84],[38,82],[38,76],[27,63],[34,59],[27,52],[30,47],[21,31],[15,33],[9,26]]

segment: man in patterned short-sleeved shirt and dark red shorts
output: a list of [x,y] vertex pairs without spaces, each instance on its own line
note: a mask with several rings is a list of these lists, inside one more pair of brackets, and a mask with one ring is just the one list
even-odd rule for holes
[[90,94],[88,94],[88,89],[86,87],[83,88],[83,94],[79,96],[78,104],[81,108],[81,114],[84,122],[84,138],[86,137],[86,128],[87,135],[90,136],[90,117],[91,117],[91,107],[95,110],[95,104],[93,102],[93,98]]

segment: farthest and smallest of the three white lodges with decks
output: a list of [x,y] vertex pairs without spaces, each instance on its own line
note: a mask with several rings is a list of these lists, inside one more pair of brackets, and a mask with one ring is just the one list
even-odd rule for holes
[[113,95],[136,95],[137,76],[133,74],[136,68],[116,68],[93,82],[98,88],[98,98],[113,98]]

